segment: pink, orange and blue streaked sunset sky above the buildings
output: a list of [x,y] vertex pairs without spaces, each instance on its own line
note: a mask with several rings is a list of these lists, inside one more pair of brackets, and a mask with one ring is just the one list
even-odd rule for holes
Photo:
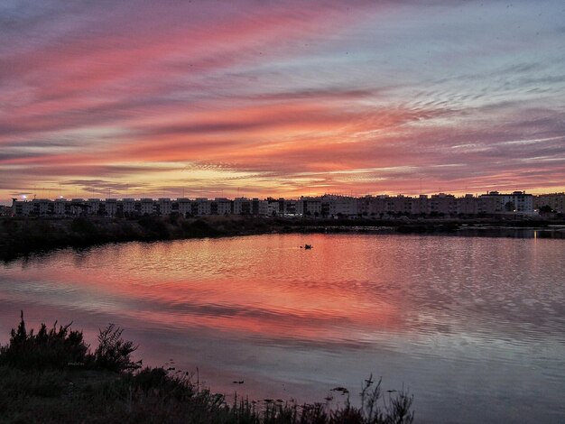
[[4,0],[0,201],[565,190],[565,4]]

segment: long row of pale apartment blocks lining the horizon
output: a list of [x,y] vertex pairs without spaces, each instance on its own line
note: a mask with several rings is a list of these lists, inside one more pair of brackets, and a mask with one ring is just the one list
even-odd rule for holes
[[302,196],[298,200],[285,198],[57,198],[50,200],[13,199],[11,214],[20,217],[142,217],[169,216],[179,213],[183,217],[206,215],[252,215],[281,217],[455,217],[484,215],[520,215],[537,213],[540,207],[551,207],[556,213],[565,210],[565,193],[534,197],[523,191],[499,193],[489,191],[478,197],[467,194],[456,198],[439,193],[428,197],[410,196]]

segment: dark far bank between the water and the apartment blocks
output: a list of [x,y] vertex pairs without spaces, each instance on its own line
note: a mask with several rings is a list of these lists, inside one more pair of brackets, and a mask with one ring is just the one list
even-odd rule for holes
[[[514,229],[565,227],[565,221],[499,218],[296,219],[281,217],[0,218],[0,259],[60,247],[284,233],[485,235]],[[510,234],[512,235],[512,233]],[[558,237],[565,238],[565,237]]]

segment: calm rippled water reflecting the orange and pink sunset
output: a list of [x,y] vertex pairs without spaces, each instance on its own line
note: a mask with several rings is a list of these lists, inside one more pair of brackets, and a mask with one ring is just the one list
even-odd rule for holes
[[93,344],[114,322],[145,364],[198,367],[219,392],[323,401],[341,385],[355,400],[374,373],[414,394],[417,422],[565,422],[563,240],[259,235],[61,250],[0,265],[0,343],[20,309],[33,326],[73,320]]

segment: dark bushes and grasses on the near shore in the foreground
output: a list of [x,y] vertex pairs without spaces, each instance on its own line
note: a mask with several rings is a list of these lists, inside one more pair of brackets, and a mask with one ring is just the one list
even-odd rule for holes
[[[412,423],[412,396],[396,392],[384,401],[381,382],[366,380],[361,406],[238,399],[193,383],[190,373],[141,368],[136,346],[119,327],[100,330],[94,353],[70,325],[42,325],[27,332],[22,319],[0,347],[2,422],[85,423]],[[174,372],[174,373],[173,373]],[[348,393],[345,388],[335,391]]]

